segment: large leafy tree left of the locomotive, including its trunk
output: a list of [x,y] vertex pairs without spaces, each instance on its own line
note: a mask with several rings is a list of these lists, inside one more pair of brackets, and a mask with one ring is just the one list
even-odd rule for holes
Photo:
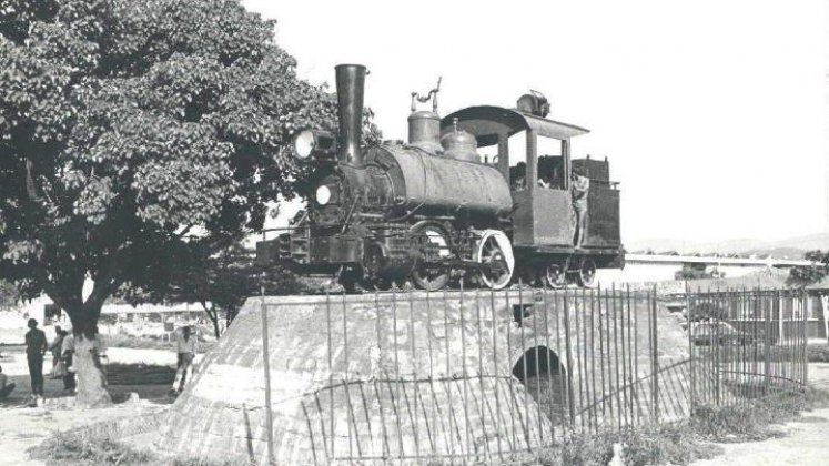
[[113,293],[262,226],[299,178],[286,141],[335,103],[235,0],[1,4],[0,274],[65,310],[83,358]]

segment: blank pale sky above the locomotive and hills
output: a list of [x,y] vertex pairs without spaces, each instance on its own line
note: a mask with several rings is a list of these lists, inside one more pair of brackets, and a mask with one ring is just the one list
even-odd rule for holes
[[542,91],[609,159],[623,240],[829,231],[829,0],[243,3],[301,78],[365,64],[386,139],[438,77],[442,114]]

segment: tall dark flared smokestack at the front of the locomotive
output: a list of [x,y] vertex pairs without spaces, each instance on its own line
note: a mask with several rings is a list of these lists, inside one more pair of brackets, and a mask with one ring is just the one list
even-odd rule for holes
[[340,129],[337,133],[337,160],[354,166],[363,165],[360,140],[363,129],[363,91],[365,67],[338,64],[336,70],[336,100]]

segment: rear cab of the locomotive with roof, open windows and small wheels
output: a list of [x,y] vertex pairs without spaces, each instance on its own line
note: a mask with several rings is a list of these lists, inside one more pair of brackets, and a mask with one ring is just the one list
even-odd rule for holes
[[[519,101],[518,108],[522,107]],[[563,284],[567,273],[577,274],[579,281],[590,284],[595,269],[624,265],[619,190],[618,183],[610,181],[609,162],[570,155],[570,140],[587,134],[588,130],[546,119],[530,109],[491,105],[462,109],[443,119],[444,132],[452,131],[453,125],[473,134],[479,148],[497,145],[491,163],[510,186],[514,202],[510,239],[516,263],[524,264],[520,272],[527,281],[538,280],[540,271],[542,275],[550,272],[555,277],[549,281],[552,285]],[[509,141],[522,132],[525,154],[510,166]],[[539,142],[557,143],[560,151],[539,155]],[[574,170],[589,180],[580,244],[574,241],[577,227],[572,190]]]

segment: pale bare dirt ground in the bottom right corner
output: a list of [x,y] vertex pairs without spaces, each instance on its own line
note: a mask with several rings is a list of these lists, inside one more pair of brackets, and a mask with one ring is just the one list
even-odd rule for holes
[[[809,364],[809,383],[829,389],[829,364]],[[720,444],[725,454],[692,466],[823,466],[829,464],[829,408],[803,413],[780,427],[785,437],[764,442]]]

